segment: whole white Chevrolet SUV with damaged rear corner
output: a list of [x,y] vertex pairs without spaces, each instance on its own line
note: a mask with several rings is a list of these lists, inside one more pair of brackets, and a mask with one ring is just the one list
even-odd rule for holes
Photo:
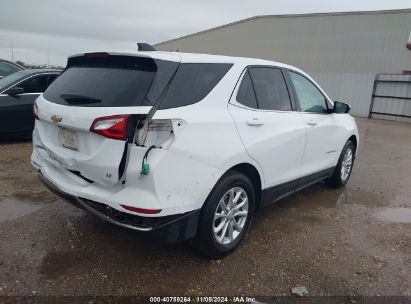
[[264,205],[347,183],[358,150],[349,109],[277,62],[86,53],[37,99],[31,159],[77,206],[218,258]]

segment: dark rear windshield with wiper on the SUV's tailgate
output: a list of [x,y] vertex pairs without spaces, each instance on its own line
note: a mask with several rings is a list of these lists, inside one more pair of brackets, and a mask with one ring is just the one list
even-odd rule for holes
[[156,75],[153,60],[85,60],[69,67],[44,93],[51,102],[87,106],[141,106]]

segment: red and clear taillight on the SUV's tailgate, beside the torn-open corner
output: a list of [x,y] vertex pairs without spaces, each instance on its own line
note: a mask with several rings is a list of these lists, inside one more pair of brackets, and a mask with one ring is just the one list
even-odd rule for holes
[[113,115],[96,118],[90,127],[90,131],[107,138],[126,140],[129,117],[130,115]]

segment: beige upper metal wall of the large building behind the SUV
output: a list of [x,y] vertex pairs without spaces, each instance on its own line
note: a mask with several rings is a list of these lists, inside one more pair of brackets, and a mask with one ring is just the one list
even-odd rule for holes
[[313,73],[400,73],[411,10],[260,16],[159,43],[164,51],[264,58]]

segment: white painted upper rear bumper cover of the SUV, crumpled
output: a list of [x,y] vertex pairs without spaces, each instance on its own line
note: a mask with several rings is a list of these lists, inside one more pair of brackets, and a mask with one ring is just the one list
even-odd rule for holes
[[[142,175],[141,164],[147,148],[130,145],[122,180],[114,185],[107,185],[85,175],[90,168],[77,163],[79,156],[72,155],[61,162],[58,149],[56,148],[57,152],[53,152],[53,149],[53,146],[49,149],[41,141],[36,126],[33,133],[32,164],[61,191],[132,215],[135,213],[125,209],[122,204],[161,210],[159,214],[143,214],[144,217],[165,217],[201,209],[210,190],[224,173],[186,153],[153,149],[149,159],[150,174]],[[113,161],[113,151],[107,151],[109,152],[101,162],[102,170],[107,165],[110,167]]]

